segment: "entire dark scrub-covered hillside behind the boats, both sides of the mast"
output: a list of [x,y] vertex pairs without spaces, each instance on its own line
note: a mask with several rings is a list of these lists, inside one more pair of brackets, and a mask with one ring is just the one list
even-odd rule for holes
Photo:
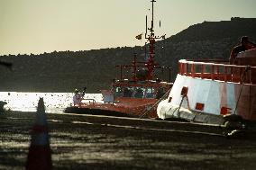
[[[256,41],[256,19],[232,18],[231,21],[202,22],[158,41],[155,60],[171,67],[177,75],[181,58],[229,58],[231,48],[242,35]],[[0,67],[0,91],[72,92],[87,86],[89,93],[109,88],[119,77],[116,65],[129,64],[133,53],[143,58],[143,47],[123,47],[81,51],[54,51],[41,55],[1,56],[13,62],[13,71]]]

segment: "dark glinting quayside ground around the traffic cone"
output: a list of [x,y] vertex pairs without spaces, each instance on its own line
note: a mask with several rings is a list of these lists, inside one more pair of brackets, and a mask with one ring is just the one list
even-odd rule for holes
[[[0,169],[24,169],[33,112],[0,115]],[[54,169],[255,169],[255,134],[220,126],[48,114]]]

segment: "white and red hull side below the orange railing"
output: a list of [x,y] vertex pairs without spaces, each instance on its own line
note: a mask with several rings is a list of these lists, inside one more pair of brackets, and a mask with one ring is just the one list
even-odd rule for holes
[[[187,88],[187,100],[182,101],[182,89]],[[158,116],[166,119],[178,115],[177,108],[213,115],[238,114],[256,121],[256,85],[224,82],[178,75],[167,100],[158,106]]]

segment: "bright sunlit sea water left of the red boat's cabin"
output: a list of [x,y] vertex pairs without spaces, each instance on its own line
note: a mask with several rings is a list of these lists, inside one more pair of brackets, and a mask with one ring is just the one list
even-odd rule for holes
[[[5,101],[5,109],[35,112],[40,97],[43,97],[46,112],[63,112],[72,103],[73,93],[23,93],[0,92],[0,101]],[[102,94],[86,94],[84,98],[102,101]]]

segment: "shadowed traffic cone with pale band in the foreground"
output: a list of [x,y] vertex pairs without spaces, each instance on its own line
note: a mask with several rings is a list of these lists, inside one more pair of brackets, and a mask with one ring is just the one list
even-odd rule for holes
[[50,142],[43,98],[40,98],[38,102],[36,121],[32,128],[31,146],[29,148],[26,169],[52,169]]

